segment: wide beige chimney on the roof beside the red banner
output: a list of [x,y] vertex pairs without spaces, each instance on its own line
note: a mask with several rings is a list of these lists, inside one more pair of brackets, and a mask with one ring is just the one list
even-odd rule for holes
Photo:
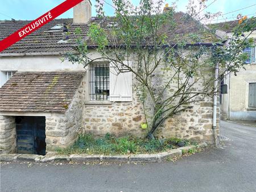
[[84,0],[74,7],[73,24],[86,24],[92,18],[92,3]]

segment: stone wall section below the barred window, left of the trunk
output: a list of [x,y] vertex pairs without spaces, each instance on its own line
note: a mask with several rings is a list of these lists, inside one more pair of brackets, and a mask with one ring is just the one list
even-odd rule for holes
[[142,106],[133,99],[133,102],[114,102],[111,105],[85,105],[84,130],[96,136],[112,133],[116,136],[146,134],[141,129],[144,122]]

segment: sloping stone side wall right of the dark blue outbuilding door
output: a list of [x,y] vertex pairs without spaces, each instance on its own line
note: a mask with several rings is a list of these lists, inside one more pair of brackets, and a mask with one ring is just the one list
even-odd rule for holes
[[46,116],[46,149],[67,147],[72,144],[82,128],[82,107],[85,101],[85,78],[72,99],[65,114]]

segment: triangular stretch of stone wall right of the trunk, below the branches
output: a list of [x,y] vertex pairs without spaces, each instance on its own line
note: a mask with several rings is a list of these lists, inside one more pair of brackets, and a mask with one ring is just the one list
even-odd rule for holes
[[[219,130],[220,109],[217,107],[217,137]],[[181,114],[169,118],[163,127],[159,129],[160,135],[167,137],[179,137],[207,141],[213,144],[213,101],[205,98],[204,102],[195,103],[192,109],[185,110]]]

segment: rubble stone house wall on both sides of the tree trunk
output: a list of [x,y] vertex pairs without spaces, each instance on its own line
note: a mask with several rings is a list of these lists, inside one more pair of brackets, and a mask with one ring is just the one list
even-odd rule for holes
[[[219,108],[217,108],[217,122],[219,122]],[[111,105],[84,107],[84,130],[96,136],[112,133],[116,136],[134,135],[143,137],[147,130],[142,130],[141,123],[145,122],[142,106],[136,96],[133,102],[114,102]],[[156,134],[163,137],[180,137],[214,141],[212,131],[213,99],[206,97],[204,102],[196,103],[192,109],[181,112],[169,118],[158,129]],[[217,123],[217,134],[219,124]]]

